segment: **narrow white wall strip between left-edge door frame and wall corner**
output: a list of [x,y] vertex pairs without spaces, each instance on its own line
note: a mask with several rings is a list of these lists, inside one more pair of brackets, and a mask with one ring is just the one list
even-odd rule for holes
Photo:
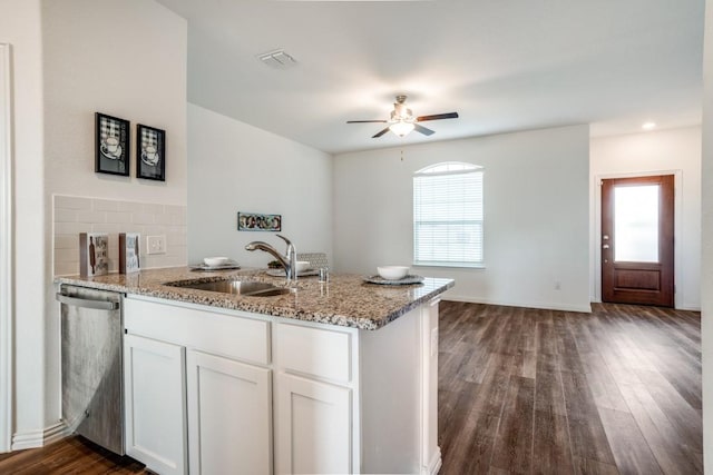
[[42,42],[39,0],[0,0],[0,42],[12,46],[13,270],[16,417],[13,432],[43,427],[45,288],[42,168]]

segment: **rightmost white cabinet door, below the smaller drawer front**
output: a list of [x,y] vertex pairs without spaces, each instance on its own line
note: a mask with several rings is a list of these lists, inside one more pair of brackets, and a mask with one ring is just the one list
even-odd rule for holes
[[352,472],[351,389],[280,374],[275,425],[279,474]]

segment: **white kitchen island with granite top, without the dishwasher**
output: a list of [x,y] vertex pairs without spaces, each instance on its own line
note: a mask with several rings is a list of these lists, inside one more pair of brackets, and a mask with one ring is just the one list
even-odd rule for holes
[[289,286],[258,269],[57,278],[125,294],[128,455],[163,474],[438,472],[438,298],[452,280],[183,287],[227,279]]

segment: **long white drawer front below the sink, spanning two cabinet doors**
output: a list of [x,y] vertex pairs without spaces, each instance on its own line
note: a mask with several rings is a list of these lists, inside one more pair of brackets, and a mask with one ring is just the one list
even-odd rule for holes
[[126,298],[124,325],[135,335],[270,364],[270,323],[237,315]]

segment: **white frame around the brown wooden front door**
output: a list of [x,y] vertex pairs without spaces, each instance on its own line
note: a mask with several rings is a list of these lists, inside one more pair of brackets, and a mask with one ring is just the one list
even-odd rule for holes
[[[678,286],[683,278],[683,259],[681,246],[683,239],[681,234],[683,231],[682,219],[683,216],[683,201],[681,192],[681,186],[683,185],[683,170],[653,170],[653,171],[632,171],[625,174],[600,174],[594,177],[594,236],[592,237],[592,256],[593,256],[593,275],[594,275],[594,301],[602,301],[602,180],[608,180],[613,178],[642,178],[642,177],[655,177],[658,175],[673,175],[674,186],[674,225],[673,225],[673,280],[674,289]],[[682,294],[674,291],[673,297],[674,308],[681,308]]]

